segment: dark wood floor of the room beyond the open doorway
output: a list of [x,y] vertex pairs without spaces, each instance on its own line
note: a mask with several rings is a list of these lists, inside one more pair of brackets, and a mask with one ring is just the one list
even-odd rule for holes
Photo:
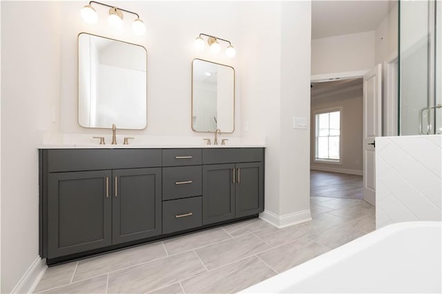
[[362,175],[310,170],[310,195],[363,199],[363,177]]

